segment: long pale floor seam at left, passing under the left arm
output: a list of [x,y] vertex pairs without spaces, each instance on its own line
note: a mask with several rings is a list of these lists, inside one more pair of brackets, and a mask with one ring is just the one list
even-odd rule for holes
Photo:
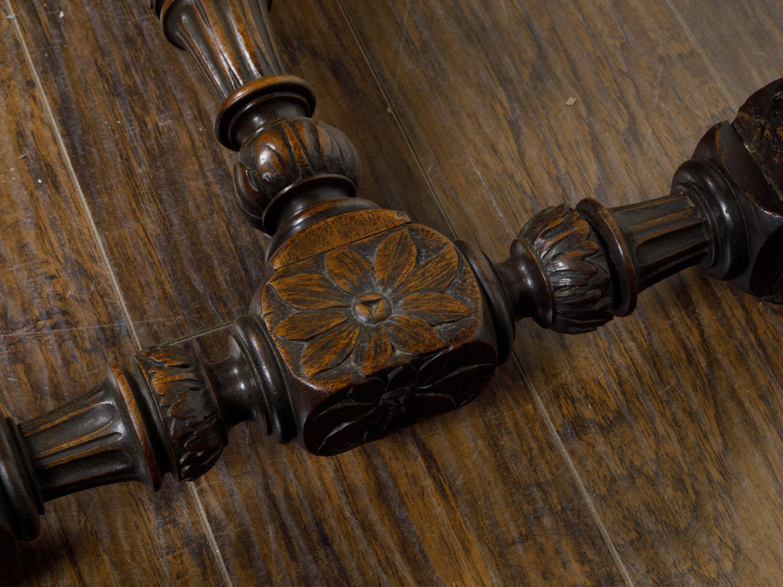
[[[13,11],[13,5],[11,5],[11,0],[5,0],[5,8],[8,10],[9,15],[15,14]],[[25,41],[24,35],[22,34],[22,27],[20,27],[20,24],[16,20],[16,18],[9,19],[9,20],[11,21],[11,26],[16,32],[16,37],[18,38],[20,46],[22,48],[24,59],[27,62],[27,67],[30,70],[31,76],[33,77],[33,82],[35,84],[35,88],[41,99],[41,106],[43,106],[46,117],[49,120],[49,126],[52,129],[52,134],[54,135],[55,141],[57,142],[57,147],[60,150],[60,154],[63,157],[63,161],[65,163],[68,176],[70,177],[71,183],[73,183],[74,185],[74,191],[78,196],[79,202],[81,203],[81,207],[85,213],[85,217],[87,218],[87,222],[90,227],[90,232],[92,232],[92,238],[96,241],[96,247],[98,247],[101,261],[103,261],[103,265],[106,268],[106,272],[109,276],[112,290],[114,290],[114,295],[117,296],[117,303],[120,304],[122,315],[125,319],[125,322],[127,322],[128,333],[131,336],[131,340],[133,341],[134,348],[137,351],[140,351],[142,346],[141,343],[139,342],[139,336],[136,333],[135,328],[133,326],[131,315],[130,312],[128,311],[128,305],[125,304],[125,299],[124,296],[122,295],[120,284],[117,281],[117,275],[115,275],[114,268],[112,267],[111,262],[109,260],[109,256],[108,254],[106,254],[105,247],[103,247],[103,241],[100,238],[98,227],[95,223],[94,218],[92,218],[92,211],[90,211],[87,198],[85,197],[85,194],[81,189],[81,183],[79,182],[79,178],[76,175],[76,171],[74,170],[74,165],[70,160],[70,153],[68,153],[67,147],[65,145],[65,141],[63,140],[63,135],[60,133],[60,125],[57,124],[57,120],[54,116],[54,112],[52,111],[52,106],[49,104],[49,97],[46,95],[43,84],[41,83],[41,77],[38,76],[38,70],[36,69],[32,56],[30,54],[30,49],[28,49],[27,47],[27,41]],[[226,587],[231,587],[232,585],[231,577],[229,576],[229,572],[228,569],[226,568],[226,563],[223,560],[223,556],[220,553],[220,549],[218,549],[218,543],[215,540],[215,534],[212,531],[211,525],[209,524],[209,520],[207,519],[207,514],[204,510],[204,505],[201,503],[201,500],[196,492],[196,489],[193,488],[193,484],[187,483],[186,486],[188,488],[189,494],[193,498],[193,502],[196,505],[196,510],[198,513],[199,520],[201,522],[202,527],[204,528],[205,534],[207,535],[207,543],[210,546],[212,556],[215,557],[215,561],[218,564],[218,569],[220,570],[223,585],[226,585]]]

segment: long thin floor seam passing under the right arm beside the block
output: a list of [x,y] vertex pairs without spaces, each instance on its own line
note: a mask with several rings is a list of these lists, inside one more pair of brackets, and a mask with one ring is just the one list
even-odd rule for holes
[[[419,167],[419,171],[421,172],[421,175],[424,177],[424,181],[427,182],[432,197],[435,199],[435,202],[438,204],[438,210],[441,212],[444,220],[446,221],[446,225],[449,226],[449,229],[452,232],[452,238],[453,239],[456,238],[456,234],[457,234],[456,229],[454,228],[454,225],[451,219],[449,218],[449,215],[446,214],[446,209],[443,206],[441,199],[438,197],[438,193],[435,191],[435,185],[433,185],[426,171],[424,171],[424,165],[421,163],[419,154],[414,148],[413,142],[410,140],[410,136],[406,132],[405,128],[402,126],[402,121],[400,121],[394,106],[391,105],[391,99],[389,98],[384,86],[381,84],[381,78],[378,77],[372,62],[370,62],[370,56],[367,54],[366,50],[364,49],[364,45],[362,44],[362,41],[359,40],[359,35],[356,33],[351,20],[348,18],[348,13],[345,12],[345,8],[342,5],[342,0],[335,0],[335,2],[337,2],[337,6],[339,6],[342,12],[343,18],[345,19],[345,23],[348,25],[348,28],[350,29],[351,34],[353,35],[353,38],[356,41],[356,45],[359,47],[359,51],[362,53],[362,56],[364,57],[367,67],[370,69],[370,73],[372,74],[373,79],[375,80],[378,90],[381,92],[384,102],[388,106],[388,112],[391,113],[392,117],[394,117],[395,124],[397,124],[397,127],[399,128],[399,131],[402,133],[402,136],[405,139],[408,148],[410,149],[410,152],[413,154],[413,159],[416,160],[416,164]],[[708,67],[709,67],[709,63],[708,63]],[[720,81],[718,81],[718,83],[720,84]],[[723,88],[722,85],[721,88]],[[725,92],[725,88],[723,88],[723,90]],[[577,490],[579,491],[579,495],[584,500],[587,509],[590,511],[590,517],[593,518],[594,524],[596,525],[599,533],[601,534],[601,538],[603,538],[604,543],[606,544],[609,550],[610,556],[612,556],[612,560],[614,561],[620,574],[622,575],[623,581],[626,583],[626,587],[634,587],[633,579],[631,579],[630,574],[626,569],[626,565],[622,562],[622,559],[620,558],[619,553],[615,548],[615,544],[612,541],[612,537],[609,535],[608,530],[604,526],[604,522],[601,520],[601,516],[596,510],[595,504],[593,503],[593,500],[590,498],[590,494],[587,492],[587,489],[582,481],[582,478],[579,477],[579,472],[576,470],[576,466],[574,465],[571,456],[568,455],[568,451],[566,450],[565,445],[563,444],[563,441],[560,438],[560,434],[557,433],[557,429],[554,427],[554,423],[552,422],[552,419],[550,418],[546,407],[543,405],[543,402],[539,397],[538,391],[536,391],[536,387],[533,386],[532,380],[530,380],[530,377],[525,372],[525,369],[522,367],[521,361],[519,360],[516,353],[514,353],[513,356],[514,356],[514,362],[516,363],[522,375],[522,378],[525,380],[525,385],[528,386],[529,391],[532,394],[533,400],[536,402],[536,407],[539,410],[539,413],[541,414],[544,420],[547,430],[550,433],[550,436],[554,438],[554,443],[557,446],[557,450],[561,453],[562,458],[565,460],[565,464],[568,467],[568,472],[571,474],[572,478],[574,479],[574,482],[576,483],[576,487]]]

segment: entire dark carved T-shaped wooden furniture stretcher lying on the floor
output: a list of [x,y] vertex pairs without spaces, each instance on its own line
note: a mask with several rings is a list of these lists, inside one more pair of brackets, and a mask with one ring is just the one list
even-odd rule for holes
[[245,420],[334,455],[458,408],[508,357],[519,319],[589,332],[691,265],[783,301],[783,81],[707,132],[671,195],[547,208],[493,263],[356,196],[359,158],[312,120],[309,85],[283,73],[266,0],[153,8],[223,100],[215,132],[239,152],[236,205],[272,236],[269,278],[221,362],[147,348],[60,409],[0,423],[7,555],[38,535],[44,502],[120,481],[157,489],[167,473],[193,480]]

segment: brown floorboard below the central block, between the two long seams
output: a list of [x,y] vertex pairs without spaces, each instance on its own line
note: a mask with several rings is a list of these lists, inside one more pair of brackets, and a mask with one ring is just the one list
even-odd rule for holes
[[463,409],[328,458],[240,424],[197,481],[233,584],[622,585],[519,387],[504,366]]

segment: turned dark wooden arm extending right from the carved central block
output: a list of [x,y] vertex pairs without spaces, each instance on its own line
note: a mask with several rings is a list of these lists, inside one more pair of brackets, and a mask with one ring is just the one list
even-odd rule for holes
[[561,333],[595,330],[685,268],[783,303],[783,80],[753,94],[734,123],[711,128],[677,169],[671,193],[616,208],[582,200],[539,212],[489,261],[457,242],[493,316],[500,357],[514,322]]

